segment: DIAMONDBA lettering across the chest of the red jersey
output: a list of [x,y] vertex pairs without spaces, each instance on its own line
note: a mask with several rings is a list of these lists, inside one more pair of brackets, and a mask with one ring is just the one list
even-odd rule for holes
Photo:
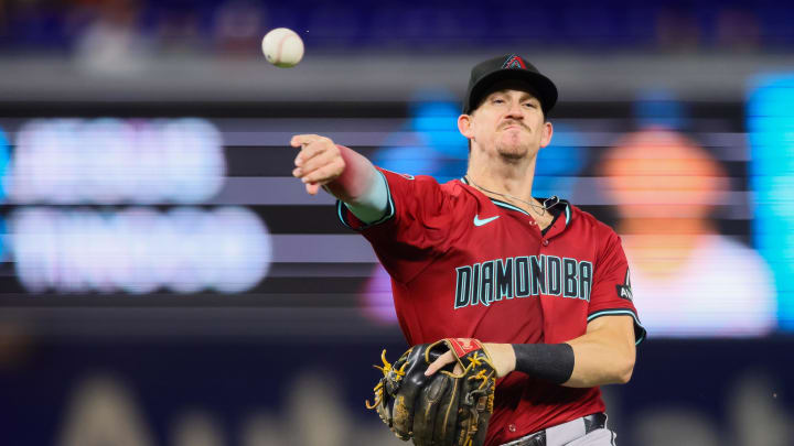
[[458,266],[454,308],[539,295],[590,302],[592,276],[592,262],[544,254]]

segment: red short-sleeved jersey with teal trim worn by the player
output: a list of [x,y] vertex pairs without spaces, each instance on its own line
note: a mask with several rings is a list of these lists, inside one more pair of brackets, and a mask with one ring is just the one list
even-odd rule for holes
[[[339,216],[369,240],[391,276],[395,308],[410,345],[447,337],[485,342],[558,344],[601,316],[634,318],[620,238],[565,200],[540,230],[526,211],[490,198],[464,180],[378,168],[389,202],[366,225],[343,204]],[[604,411],[599,388],[572,389],[512,372],[496,385],[486,445]]]

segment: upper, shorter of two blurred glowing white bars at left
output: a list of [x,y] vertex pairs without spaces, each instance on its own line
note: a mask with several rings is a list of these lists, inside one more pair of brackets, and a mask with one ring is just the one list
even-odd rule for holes
[[18,204],[194,204],[213,197],[226,161],[205,119],[34,119],[17,135],[9,197]]

